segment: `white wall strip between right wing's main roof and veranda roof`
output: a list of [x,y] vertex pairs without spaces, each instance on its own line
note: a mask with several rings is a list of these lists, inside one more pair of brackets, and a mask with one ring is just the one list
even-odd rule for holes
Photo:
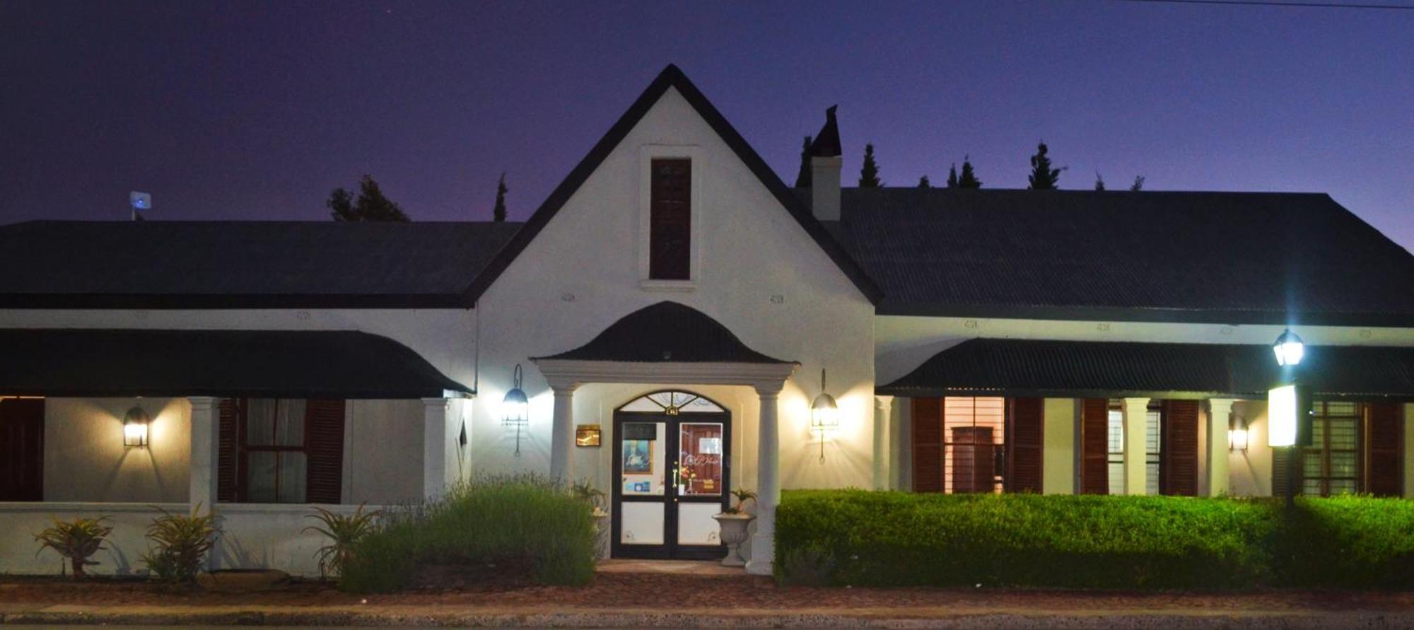
[[[878,316],[874,325],[880,384],[891,383],[940,350],[973,338],[1086,342],[1176,342],[1270,345],[1284,326],[1220,323],[1094,322]],[[1410,328],[1301,326],[1309,345],[1414,346]]]

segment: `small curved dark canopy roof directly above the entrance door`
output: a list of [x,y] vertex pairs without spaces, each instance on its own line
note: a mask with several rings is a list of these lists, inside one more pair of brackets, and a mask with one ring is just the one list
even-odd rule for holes
[[790,363],[747,347],[696,308],[658,302],[624,315],[588,343],[540,359],[635,363]]

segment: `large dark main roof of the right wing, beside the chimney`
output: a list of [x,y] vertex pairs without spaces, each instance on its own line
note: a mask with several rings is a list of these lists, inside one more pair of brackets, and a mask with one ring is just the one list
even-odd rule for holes
[[881,315],[1414,325],[1414,256],[1319,194],[846,188],[840,239]]

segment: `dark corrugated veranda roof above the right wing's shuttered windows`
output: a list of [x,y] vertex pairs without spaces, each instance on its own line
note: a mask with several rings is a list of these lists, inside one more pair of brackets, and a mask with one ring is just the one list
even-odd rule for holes
[[[1307,346],[1298,376],[1318,396],[1414,400],[1414,347]],[[1261,345],[970,339],[878,393],[1261,398],[1281,379]]]

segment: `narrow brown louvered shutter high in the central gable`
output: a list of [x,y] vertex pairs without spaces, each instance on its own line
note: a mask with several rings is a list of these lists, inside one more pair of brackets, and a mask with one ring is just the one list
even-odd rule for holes
[[652,280],[691,280],[691,160],[653,160],[649,165],[649,258]]

